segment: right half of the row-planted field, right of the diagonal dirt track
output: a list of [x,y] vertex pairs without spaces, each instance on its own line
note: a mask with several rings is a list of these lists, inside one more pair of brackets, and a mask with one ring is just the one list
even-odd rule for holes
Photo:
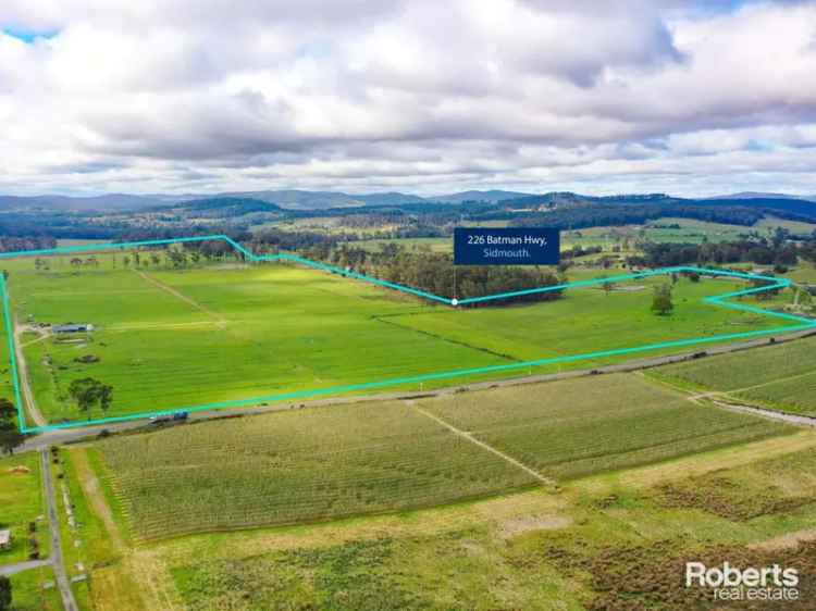
[[426,399],[421,404],[540,473],[562,478],[792,432],[691,403],[632,374]]

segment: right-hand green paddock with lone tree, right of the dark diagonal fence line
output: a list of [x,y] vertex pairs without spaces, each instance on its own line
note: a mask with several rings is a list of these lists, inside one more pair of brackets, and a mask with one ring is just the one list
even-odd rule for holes
[[[611,271],[610,275],[616,273],[620,272]],[[569,277],[578,280],[599,275],[598,271],[574,271]],[[655,316],[650,311],[652,290],[665,283],[663,277],[635,279],[617,284],[608,295],[599,287],[574,288],[568,289],[559,300],[533,306],[466,311],[436,309],[381,320],[518,361],[735,334],[786,324],[786,321],[703,303],[706,296],[744,288],[744,284],[724,280],[679,280],[673,288],[673,313]],[[663,350],[671,351],[670,348]],[[646,354],[658,353],[662,351]],[[579,361],[577,366],[620,360],[620,357],[593,359]]]

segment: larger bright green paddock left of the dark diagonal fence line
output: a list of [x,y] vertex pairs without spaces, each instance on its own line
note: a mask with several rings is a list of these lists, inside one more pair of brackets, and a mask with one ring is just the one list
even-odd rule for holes
[[[18,273],[12,292],[20,321],[98,327],[25,340],[52,422],[81,417],[66,391],[87,376],[114,387],[114,416],[506,362],[372,317],[424,304],[283,265]],[[99,361],[76,361],[88,354]]]

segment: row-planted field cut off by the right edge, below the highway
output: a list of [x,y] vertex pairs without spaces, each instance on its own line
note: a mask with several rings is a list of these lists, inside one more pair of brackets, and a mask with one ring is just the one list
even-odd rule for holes
[[816,338],[653,370],[652,375],[786,412],[816,415]]

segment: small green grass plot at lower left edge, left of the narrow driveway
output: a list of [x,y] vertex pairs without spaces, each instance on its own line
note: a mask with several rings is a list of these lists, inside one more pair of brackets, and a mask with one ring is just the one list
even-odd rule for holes
[[10,528],[12,548],[0,551],[0,565],[28,560],[29,524],[37,524],[36,539],[42,558],[48,556],[48,523],[37,520],[44,514],[40,491],[39,456],[27,453],[0,459],[0,528]]

